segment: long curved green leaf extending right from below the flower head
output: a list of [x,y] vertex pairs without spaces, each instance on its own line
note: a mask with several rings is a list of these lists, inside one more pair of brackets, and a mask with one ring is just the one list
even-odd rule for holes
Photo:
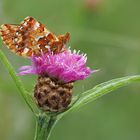
[[87,103],[90,103],[98,99],[99,97],[102,97],[103,95],[107,93],[110,93],[111,91],[114,91],[120,87],[126,86],[136,81],[140,81],[140,75],[117,78],[117,79],[113,79],[108,82],[99,84],[95,86],[93,89],[90,89],[82,93],[79,100],[74,105],[72,105],[71,108],[69,108],[67,111],[59,115],[59,119],[70,111],[76,110],[86,105]]

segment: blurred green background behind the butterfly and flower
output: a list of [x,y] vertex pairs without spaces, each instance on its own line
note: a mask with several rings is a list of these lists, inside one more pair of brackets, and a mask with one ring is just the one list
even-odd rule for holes
[[[75,83],[73,94],[112,78],[140,74],[140,0],[0,0],[0,24],[26,16],[52,32],[71,33],[69,45],[88,55],[100,69]],[[27,59],[1,49],[17,70]],[[36,76],[21,77],[28,90]],[[139,83],[108,94],[72,112],[55,127],[50,140],[140,140]],[[33,140],[35,120],[0,62],[0,140]]]

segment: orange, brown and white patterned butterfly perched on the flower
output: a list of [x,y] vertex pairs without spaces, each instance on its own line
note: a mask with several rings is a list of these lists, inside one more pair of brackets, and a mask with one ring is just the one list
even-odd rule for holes
[[70,34],[56,36],[33,17],[26,17],[20,24],[3,24],[0,35],[4,44],[15,54],[31,57],[65,50]]

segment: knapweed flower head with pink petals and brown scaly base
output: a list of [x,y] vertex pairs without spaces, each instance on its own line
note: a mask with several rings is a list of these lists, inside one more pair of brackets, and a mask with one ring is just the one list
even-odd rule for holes
[[71,103],[73,82],[94,72],[86,61],[86,55],[70,49],[57,54],[50,51],[31,57],[31,66],[22,66],[19,75],[38,75],[34,88],[38,106],[45,112],[60,112]]

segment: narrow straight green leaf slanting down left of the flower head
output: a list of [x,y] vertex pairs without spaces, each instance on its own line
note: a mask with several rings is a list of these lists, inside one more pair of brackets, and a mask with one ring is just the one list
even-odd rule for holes
[[37,112],[37,110],[38,110],[37,106],[35,105],[31,95],[25,90],[25,87],[24,87],[22,81],[17,76],[14,68],[12,67],[12,65],[10,64],[10,62],[8,61],[8,59],[6,58],[6,56],[4,55],[4,53],[1,50],[0,50],[0,59],[2,60],[5,68],[8,70],[9,74],[11,75],[13,81],[15,82],[18,90],[20,91],[22,97],[26,101],[26,103],[29,106],[29,108],[31,109],[31,111],[34,113]]

